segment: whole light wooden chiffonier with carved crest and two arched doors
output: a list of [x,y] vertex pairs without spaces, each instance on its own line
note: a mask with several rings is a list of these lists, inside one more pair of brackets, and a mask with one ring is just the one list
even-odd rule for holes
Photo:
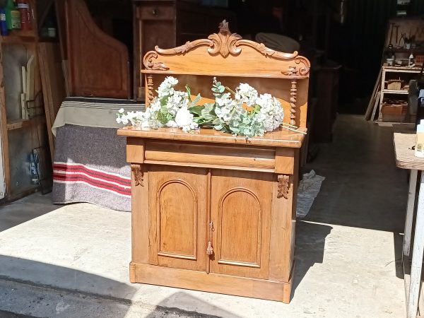
[[289,302],[309,61],[242,40],[224,22],[208,39],[148,52],[143,65],[147,105],[167,75],[211,101],[219,74],[276,96],[300,128],[251,139],[119,129],[132,171],[130,281]]

